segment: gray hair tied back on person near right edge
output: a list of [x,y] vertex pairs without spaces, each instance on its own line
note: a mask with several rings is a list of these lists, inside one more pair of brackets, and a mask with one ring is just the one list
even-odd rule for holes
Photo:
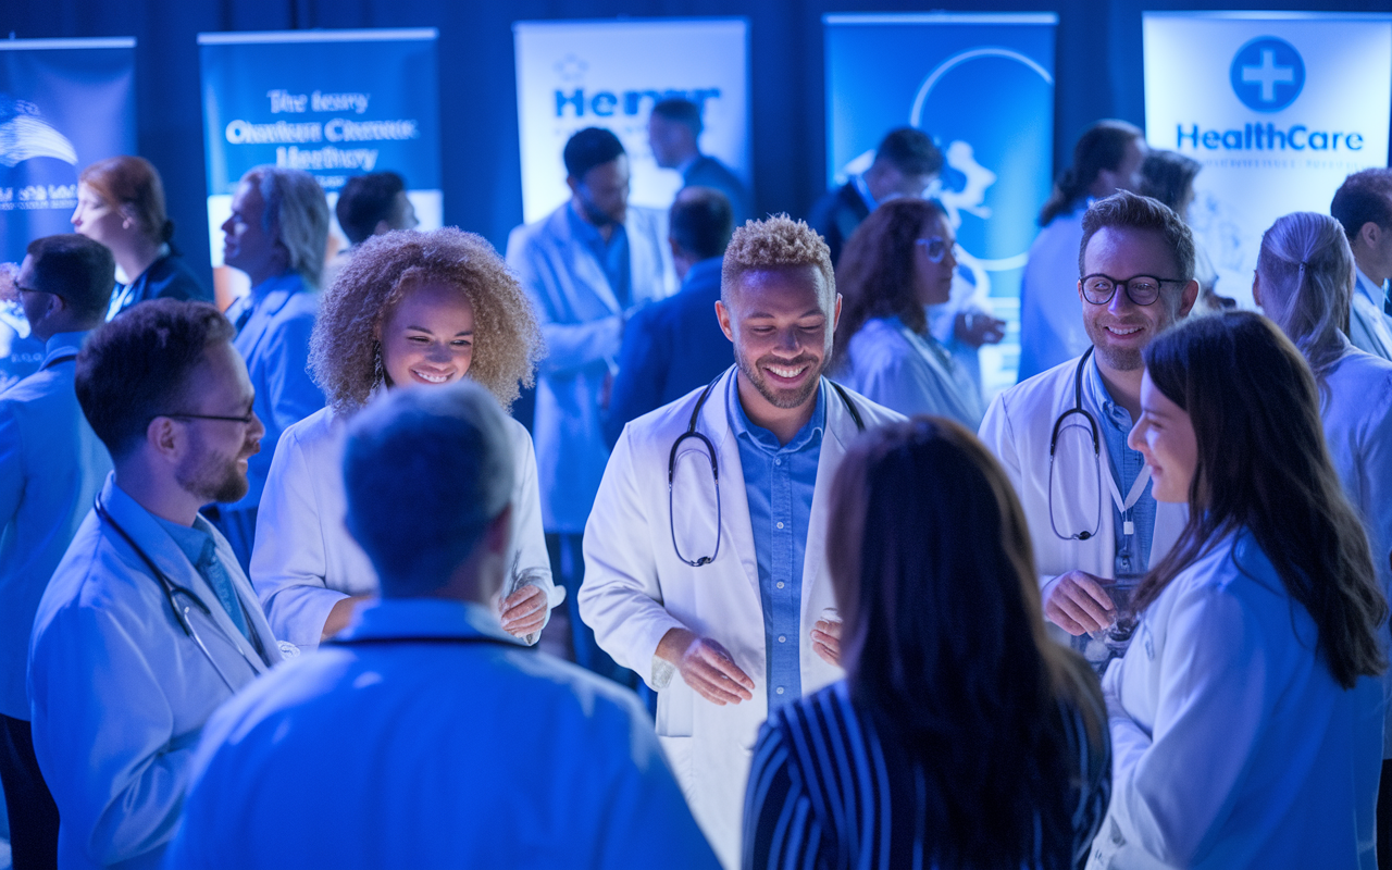
[[1343,352],[1353,303],[1353,252],[1343,227],[1314,212],[1278,217],[1261,237],[1257,277],[1261,308],[1322,384]]

